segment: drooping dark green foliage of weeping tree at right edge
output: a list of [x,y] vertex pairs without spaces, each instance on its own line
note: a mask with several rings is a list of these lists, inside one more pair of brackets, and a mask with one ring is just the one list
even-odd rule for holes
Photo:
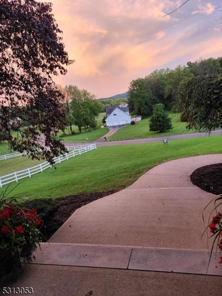
[[177,94],[177,109],[188,128],[212,131],[222,127],[222,76],[197,76],[184,80]]

